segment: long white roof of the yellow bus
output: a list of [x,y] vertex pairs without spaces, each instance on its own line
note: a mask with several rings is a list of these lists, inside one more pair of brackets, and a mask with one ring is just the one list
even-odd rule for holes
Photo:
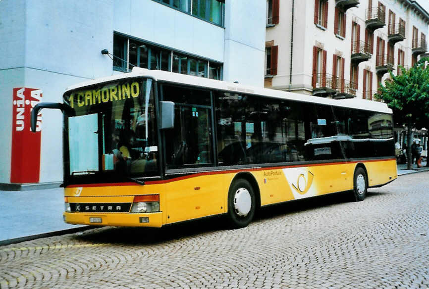
[[98,78],[95,80],[87,81],[77,85],[70,86],[66,89],[66,92],[75,90],[81,87],[91,86],[98,83],[115,81],[125,78],[147,76],[152,77],[157,81],[167,81],[177,84],[192,85],[201,88],[209,88],[215,90],[236,92],[236,93],[246,93],[259,96],[269,96],[284,98],[296,101],[305,101],[312,103],[321,103],[327,105],[348,107],[354,109],[363,109],[369,111],[377,111],[383,113],[392,113],[392,110],[387,107],[387,104],[378,101],[366,100],[366,99],[357,99],[357,98],[348,98],[348,99],[331,99],[320,96],[309,96],[304,94],[285,92],[280,90],[259,88],[241,85],[238,83],[229,83],[220,80],[214,80],[204,77],[191,76],[186,74],[173,73],[168,71],[161,70],[148,70],[145,68],[134,67],[132,72],[116,74],[104,78]]

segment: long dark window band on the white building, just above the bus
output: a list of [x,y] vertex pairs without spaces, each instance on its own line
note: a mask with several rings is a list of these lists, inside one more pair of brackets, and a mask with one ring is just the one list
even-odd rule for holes
[[217,80],[223,72],[221,63],[113,34],[113,70],[126,72],[134,66]]

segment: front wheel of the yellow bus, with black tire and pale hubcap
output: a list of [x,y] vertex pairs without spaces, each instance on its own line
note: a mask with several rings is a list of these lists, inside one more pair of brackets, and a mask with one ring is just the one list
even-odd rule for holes
[[249,225],[255,215],[256,202],[252,185],[245,179],[235,180],[228,192],[228,220],[232,228]]

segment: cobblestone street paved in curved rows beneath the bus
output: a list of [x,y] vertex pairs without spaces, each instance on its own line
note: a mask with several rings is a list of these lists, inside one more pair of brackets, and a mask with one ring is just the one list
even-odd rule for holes
[[158,229],[0,247],[0,288],[429,288],[429,172],[371,189]]

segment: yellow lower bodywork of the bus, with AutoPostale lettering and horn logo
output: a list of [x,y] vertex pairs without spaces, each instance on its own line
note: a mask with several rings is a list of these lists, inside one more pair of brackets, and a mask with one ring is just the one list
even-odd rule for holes
[[[90,213],[65,212],[67,223],[161,227],[227,212],[228,190],[240,173],[250,174],[261,195],[261,205],[307,198],[326,193],[353,190],[353,175],[359,163],[368,172],[369,186],[383,185],[397,178],[396,161],[369,160],[362,162],[313,164],[302,167],[257,168],[223,172],[207,172],[155,184],[66,188],[64,195],[71,203],[132,202],[134,195],[160,194],[157,213]],[[83,185],[84,186],[84,185]],[[101,224],[89,222],[89,217],[101,216]],[[140,223],[139,217],[149,217]]]

